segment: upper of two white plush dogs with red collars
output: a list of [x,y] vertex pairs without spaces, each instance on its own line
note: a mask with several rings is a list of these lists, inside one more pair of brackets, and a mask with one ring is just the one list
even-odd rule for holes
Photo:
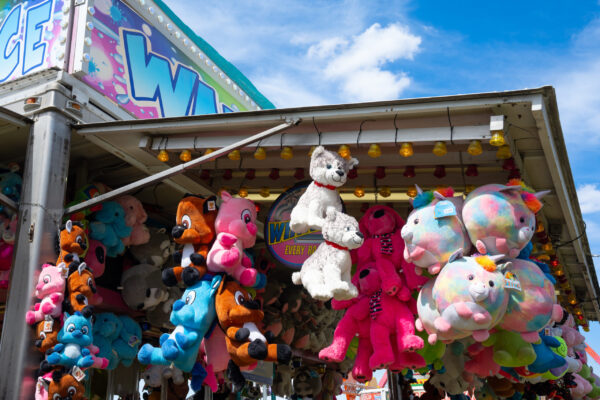
[[313,179],[290,216],[290,228],[296,233],[322,229],[328,208],[342,211],[342,200],[337,188],[346,183],[348,171],[358,165],[356,158],[344,160],[339,154],[323,146],[313,150],[310,159],[310,177]]

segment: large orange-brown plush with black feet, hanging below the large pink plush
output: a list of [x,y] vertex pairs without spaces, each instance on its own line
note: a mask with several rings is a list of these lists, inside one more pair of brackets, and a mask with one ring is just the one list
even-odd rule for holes
[[274,344],[271,332],[263,334],[261,325],[264,313],[260,303],[235,280],[225,276],[215,298],[219,325],[225,332],[225,342],[231,360],[227,375],[234,384],[234,391],[245,383],[240,367],[256,364],[258,360],[287,364],[292,351],[286,344]]

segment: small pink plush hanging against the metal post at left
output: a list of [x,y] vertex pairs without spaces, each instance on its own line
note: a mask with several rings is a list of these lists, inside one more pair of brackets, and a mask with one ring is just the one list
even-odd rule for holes
[[65,263],[60,263],[58,266],[42,265],[42,273],[35,287],[35,295],[42,301],[35,304],[33,311],[27,311],[25,320],[29,325],[42,321],[47,315],[54,318],[61,317],[66,283],[63,273],[66,268]]

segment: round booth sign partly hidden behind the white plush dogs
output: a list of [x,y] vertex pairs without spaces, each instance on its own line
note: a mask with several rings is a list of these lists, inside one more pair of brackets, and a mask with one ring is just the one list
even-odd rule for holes
[[290,229],[290,214],[310,181],[301,182],[283,192],[271,206],[265,221],[267,248],[277,261],[291,268],[301,268],[323,241],[320,231],[297,234]]

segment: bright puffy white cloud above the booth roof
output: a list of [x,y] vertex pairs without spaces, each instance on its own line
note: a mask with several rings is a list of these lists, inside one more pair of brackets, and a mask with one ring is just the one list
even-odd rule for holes
[[384,67],[412,60],[421,38],[399,23],[375,23],[351,39],[332,37],[309,47],[307,57],[325,62],[323,74],[338,82],[348,101],[395,99],[410,85],[404,72]]

